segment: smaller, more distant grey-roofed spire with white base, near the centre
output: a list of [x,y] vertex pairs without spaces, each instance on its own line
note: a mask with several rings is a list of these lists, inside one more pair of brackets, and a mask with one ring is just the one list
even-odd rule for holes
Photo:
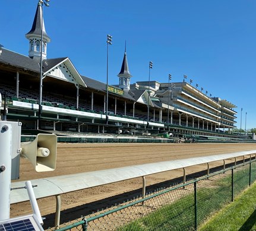
[[119,77],[119,88],[124,89],[124,91],[129,91],[130,88],[130,78],[132,77],[131,73],[129,73],[128,62],[127,62],[127,43],[125,41],[125,54],[122,62],[122,67]]

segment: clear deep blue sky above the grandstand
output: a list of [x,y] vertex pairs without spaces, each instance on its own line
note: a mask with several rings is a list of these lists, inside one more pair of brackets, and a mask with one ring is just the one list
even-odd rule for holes
[[[1,1],[0,44],[27,55],[37,0]],[[106,82],[106,35],[109,84],[118,75],[127,40],[131,82],[193,80],[214,97],[237,106],[236,126],[256,127],[255,0],[61,1],[44,7],[48,58],[69,57],[81,75]]]

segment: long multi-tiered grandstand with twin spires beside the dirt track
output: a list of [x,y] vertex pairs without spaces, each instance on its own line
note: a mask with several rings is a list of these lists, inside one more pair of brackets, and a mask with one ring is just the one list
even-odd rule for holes
[[[29,56],[1,48],[0,93],[7,102],[7,120],[21,121],[26,132],[40,129],[119,134],[133,130],[141,134],[167,131],[177,137],[239,138],[232,132],[237,114],[234,104],[208,96],[187,82],[172,83],[175,88],[157,81],[150,81],[150,86],[147,81],[131,84],[126,51],[119,85],[108,86],[107,110],[105,83],[80,75],[68,57],[47,59],[50,38],[45,28],[40,52],[40,10],[37,7],[32,28],[26,34]],[[40,54],[43,93],[39,121]]]

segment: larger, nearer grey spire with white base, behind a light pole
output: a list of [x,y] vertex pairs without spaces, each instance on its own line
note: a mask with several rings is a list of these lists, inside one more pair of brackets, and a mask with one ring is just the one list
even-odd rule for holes
[[50,37],[46,33],[45,23],[42,18],[42,5],[37,5],[36,14],[34,15],[33,25],[29,33],[26,34],[26,38],[29,40],[29,57],[32,59],[40,59],[40,43],[41,43],[41,28],[43,30],[43,59],[46,59],[46,46],[50,42]]

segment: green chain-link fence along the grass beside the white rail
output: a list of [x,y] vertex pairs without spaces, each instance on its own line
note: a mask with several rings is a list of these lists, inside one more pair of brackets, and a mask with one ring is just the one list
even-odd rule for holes
[[256,162],[149,192],[62,224],[58,230],[197,230],[256,179]]

